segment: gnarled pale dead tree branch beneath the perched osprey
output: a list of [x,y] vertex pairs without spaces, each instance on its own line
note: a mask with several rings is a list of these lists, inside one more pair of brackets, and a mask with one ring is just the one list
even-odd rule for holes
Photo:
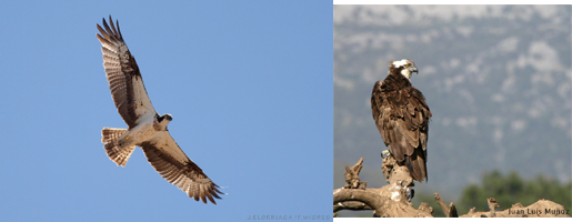
[[[372,189],[367,188],[368,182],[360,180],[360,171],[363,168],[363,158],[353,167],[345,167],[345,185],[333,190],[333,215],[340,210],[373,210],[373,216],[379,218],[432,218],[433,208],[428,203],[421,203],[419,209],[411,204],[413,198],[413,178],[407,167],[398,165],[392,155],[383,158],[381,170],[389,184]],[[515,203],[504,211],[496,211],[500,203],[494,198],[489,198],[489,212],[476,212],[475,208],[464,215],[459,215],[453,202],[445,202],[435,192],[435,201],[448,218],[566,218],[568,211],[563,205],[549,200],[539,200],[524,208]]]

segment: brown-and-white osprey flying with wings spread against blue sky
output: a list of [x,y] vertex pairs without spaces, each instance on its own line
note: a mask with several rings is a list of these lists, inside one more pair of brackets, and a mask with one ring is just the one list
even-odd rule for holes
[[116,102],[119,114],[129,129],[103,128],[101,142],[106,152],[118,165],[126,167],[136,145],[143,149],[147,160],[167,181],[177,185],[190,198],[212,203],[217,193],[222,194],[207,174],[174,142],[167,125],[171,122],[170,114],[159,115],[149,100],[141,72],[136,59],[129,52],[119,21],[117,29],[111,16],[110,26],[103,19],[104,30],[98,24],[103,52],[103,67],[109,81],[109,89]]

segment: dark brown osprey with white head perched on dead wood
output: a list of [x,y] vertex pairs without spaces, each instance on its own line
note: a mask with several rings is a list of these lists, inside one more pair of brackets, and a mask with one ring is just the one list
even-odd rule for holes
[[375,82],[371,110],[381,138],[400,165],[407,165],[417,181],[427,179],[427,139],[431,110],[413,85],[418,72],[409,59],[390,62],[385,80]]

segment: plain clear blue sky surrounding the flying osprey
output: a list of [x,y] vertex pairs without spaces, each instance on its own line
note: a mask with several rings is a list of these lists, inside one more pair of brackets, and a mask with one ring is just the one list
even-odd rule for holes
[[[126,128],[96,38],[109,14],[218,205],[141,149],[126,168],[106,155],[101,129]],[[3,1],[0,17],[1,221],[331,215],[331,2]]]

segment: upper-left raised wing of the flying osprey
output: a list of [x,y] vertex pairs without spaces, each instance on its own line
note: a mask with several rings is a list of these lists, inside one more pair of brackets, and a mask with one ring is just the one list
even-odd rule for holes
[[119,21],[117,29],[113,20],[109,16],[111,28],[103,19],[104,30],[98,24],[101,36],[98,39],[101,42],[101,52],[103,52],[103,68],[109,81],[111,97],[116,102],[119,114],[126,121],[129,128],[134,128],[148,114],[154,115],[157,112],[149,100],[141,72],[137,65],[136,59],[129,52],[121,30]]

